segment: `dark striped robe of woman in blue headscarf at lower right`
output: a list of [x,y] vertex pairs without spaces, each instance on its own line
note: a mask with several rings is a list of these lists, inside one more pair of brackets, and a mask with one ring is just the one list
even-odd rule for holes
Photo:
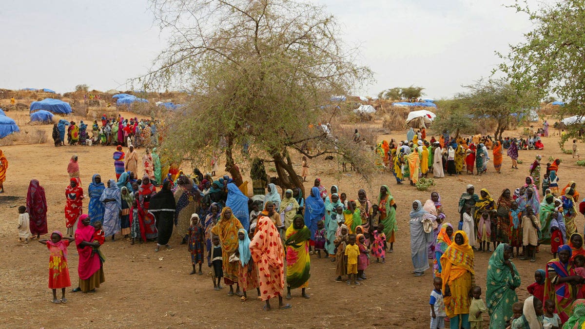
[[[562,246],[559,248],[569,248]],[[569,248],[570,250],[570,248]],[[568,282],[556,283],[556,277],[567,277],[576,275],[572,263],[560,262],[558,258],[546,264],[546,279],[545,279],[545,300],[552,299],[555,301],[555,313],[559,314],[560,321],[565,323],[569,319],[569,311],[571,304],[577,298],[577,287]]]

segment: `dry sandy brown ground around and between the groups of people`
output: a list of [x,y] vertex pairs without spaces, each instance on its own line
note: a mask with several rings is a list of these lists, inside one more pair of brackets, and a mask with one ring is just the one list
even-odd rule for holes
[[[23,116],[25,113],[9,116]],[[24,120],[21,120],[21,122]],[[38,126],[21,126],[23,130]],[[43,126],[50,132],[50,126]],[[49,135],[50,136],[50,135]],[[380,138],[404,139],[400,134]],[[50,139],[50,138],[49,138]],[[227,291],[215,292],[211,278],[204,275],[188,275],[191,270],[190,255],[185,246],[178,245],[174,235],[172,251],[154,253],[154,244],[130,245],[123,239],[108,241],[102,246],[107,257],[104,271],[106,282],[96,293],[67,293],[67,304],[51,304],[51,293],[47,289],[48,252],[45,246],[33,241],[18,242],[17,206],[25,204],[26,190],[30,179],[39,179],[44,186],[49,203],[49,232],[64,226],[64,189],[68,184],[67,163],[71,155],[77,154],[81,167],[81,181],[87,189],[91,176],[100,173],[102,180],[114,177],[113,147],[65,146],[54,148],[52,140],[42,145],[17,145],[2,148],[9,160],[6,193],[0,195],[0,318],[2,326],[22,328],[119,328],[153,327],[177,328],[202,325],[205,327],[391,327],[426,328],[429,321],[429,293],[432,290],[432,275],[413,277],[409,251],[408,212],[413,200],[424,203],[431,191],[441,193],[448,221],[456,224],[457,200],[467,184],[474,184],[476,191],[486,187],[494,199],[503,189],[521,186],[528,167],[536,153],[543,156],[560,157],[559,176],[564,186],[569,180],[577,181],[577,190],[585,187],[585,169],[575,165],[570,156],[558,150],[558,137],[545,138],[544,151],[521,151],[524,160],[518,170],[510,169],[511,162],[504,157],[503,173],[497,174],[493,167],[484,176],[453,176],[437,180],[429,191],[421,192],[404,184],[397,186],[390,173],[381,175],[373,186],[367,186],[355,174],[337,173],[333,162],[315,160],[311,163],[311,177],[321,177],[329,187],[336,184],[348,198],[356,198],[357,190],[365,187],[369,197],[377,199],[381,184],[390,186],[397,200],[398,231],[394,253],[387,254],[385,265],[373,264],[366,270],[368,277],[361,286],[349,287],[335,283],[335,265],[328,259],[312,258],[311,280],[308,293],[311,299],[293,292],[292,309],[266,312],[262,303],[253,298],[242,303],[238,297],[226,296]],[[580,145],[583,149],[583,145]],[[143,152],[140,149],[139,152]],[[243,166],[246,167],[246,166]],[[247,173],[249,167],[243,168]],[[310,184],[309,184],[310,185]],[[87,201],[84,203],[87,210]],[[583,228],[583,217],[577,219],[579,231]],[[485,287],[488,253],[476,254],[476,280]],[[538,262],[515,260],[522,276],[518,289],[521,299],[528,296],[525,287],[534,282],[534,270],[543,268],[550,255],[546,246],[538,254]],[[72,282],[77,282],[77,254],[69,248],[69,266]],[[205,268],[205,266],[204,266]],[[207,271],[205,272],[207,273]],[[255,297],[251,292],[250,296]],[[485,298],[485,289],[484,296]],[[276,305],[274,305],[276,306]],[[487,317],[485,317],[487,320]]]

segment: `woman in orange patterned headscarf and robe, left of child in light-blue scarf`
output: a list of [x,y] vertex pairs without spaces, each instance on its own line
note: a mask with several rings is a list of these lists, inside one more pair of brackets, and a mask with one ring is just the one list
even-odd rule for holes
[[244,228],[242,223],[233,215],[232,208],[225,207],[221,211],[219,220],[211,229],[211,234],[219,237],[222,251],[223,281],[229,286],[228,296],[233,296],[233,284],[236,283],[236,294],[240,296],[240,286],[238,285],[238,262],[229,261],[236,250],[238,250],[238,230]]

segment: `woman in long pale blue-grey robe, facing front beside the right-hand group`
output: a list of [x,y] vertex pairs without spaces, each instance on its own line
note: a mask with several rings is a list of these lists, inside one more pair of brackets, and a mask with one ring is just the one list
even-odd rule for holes
[[[422,208],[421,201],[414,200],[410,211],[410,252],[414,276],[425,275],[429,268],[426,248],[433,238],[432,221],[436,221],[435,215],[429,214]],[[427,222],[428,224],[425,224]],[[425,227],[427,228],[425,230]],[[428,231],[428,232],[427,232]]]

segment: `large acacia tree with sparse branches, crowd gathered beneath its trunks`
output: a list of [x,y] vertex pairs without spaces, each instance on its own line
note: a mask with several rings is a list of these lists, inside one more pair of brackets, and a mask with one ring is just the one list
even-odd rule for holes
[[[168,48],[140,78],[147,87],[190,90],[185,116],[168,123],[167,152],[205,159],[221,150],[226,170],[241,178],[243,145],[274,162],[283,187],[302,187],[290,149],[309,158],[339,153],[320,123],[335,115],[331,95],[352,90],[371,72],[354,64],[335,19],[318,6],[288,0],[153,0]],[[343,139],[343,138],[342,138]],[[319,149],[305,143],[320,140]]]

